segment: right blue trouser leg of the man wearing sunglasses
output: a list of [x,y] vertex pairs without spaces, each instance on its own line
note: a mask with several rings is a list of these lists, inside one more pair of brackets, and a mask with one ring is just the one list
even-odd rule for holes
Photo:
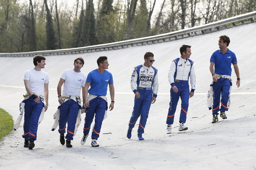
[[152,102],[152,94],[150,96],[144,96],[140,111],[140,123],[138,133],[144,133],[144,128],[147,123],[148,113]]

